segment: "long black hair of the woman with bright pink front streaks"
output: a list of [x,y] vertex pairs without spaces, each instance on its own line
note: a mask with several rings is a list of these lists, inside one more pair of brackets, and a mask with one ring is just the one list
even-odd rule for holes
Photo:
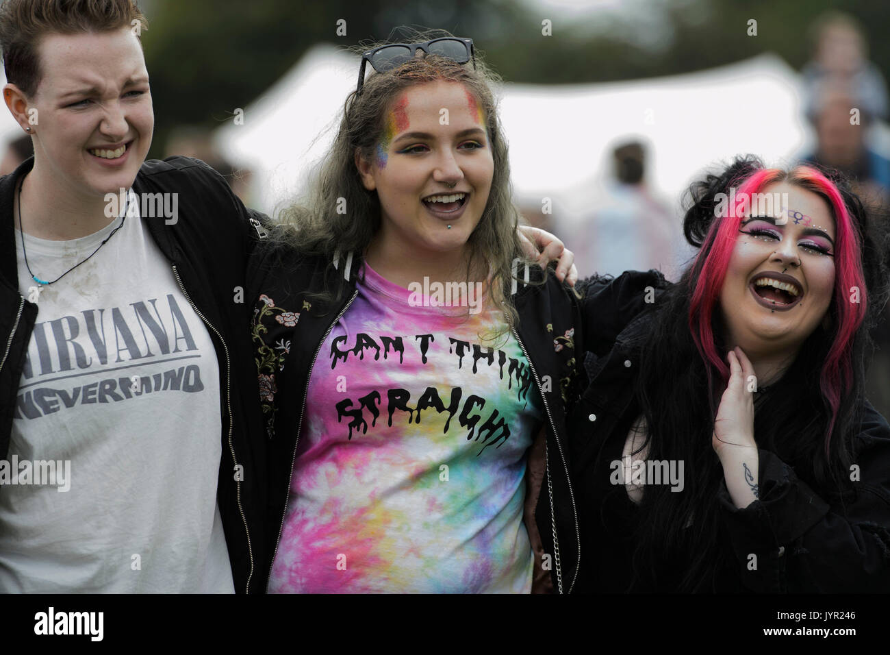
[[[646,459],[684,462],[684,490],[674,493],[663,485],[645,487],[634,539],[632,588],[637,590],[716,591],[719,571],[734,558],[733,553],[714,547],[721,530],[717,494],[724,472],[711,439],[724,372],[703,356],[693,339],[691,306],[701,288],[703,263],[715,245],[712,224],[718,194],[728,194],[731,186],[764,170],[755,157],[740,157],[721,174],[708,175],[688,191],[691,206],[684,217],[684,236],[700,254],[653,309],[654,324],[641,347],[636,389],[647,427]],[[758,447],[776,454],[800,479],[826,495],[843,499],[854,493],[849,479],[850,445],[862,422],[869,331],[886,302],[886,238],[881,237],[876,247],[862,202],[845,179],[836,172],[820,172],[840,192],[850,226],[858,236],[869,299],[866,316],[851,331],[845,350],[845,358],[848,354],[852,360],[851,374],[845,388],[837,389],[836,406],[826,397],[822,366],[838,338],[837,306],[842,300],[837,291],[829,308],[834,319],[831,327],[817,327],[781,379],[756,394],[754,434]],[[792,169],[777,175],[819,193],[802,184],[794,173]],[[832,203],[828,204],[831,208]],[[709,318],[707,332],[713,347],[717,353],[725,353],[721,312],[712,311]]]

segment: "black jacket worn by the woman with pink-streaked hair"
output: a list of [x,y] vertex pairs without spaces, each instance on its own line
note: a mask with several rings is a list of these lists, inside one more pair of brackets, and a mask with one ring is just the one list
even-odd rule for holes
[[[580,591],[623,592],[631,578],[632,535],[640,526],[624,485],[609,480],[610,463],[621,458],[627,432],[640,413],[637,364],[666,288],[656,271],[628,272],[586,288],[586,300],[598,307],[599,320],[587,326],[590,382],[569,418],[581,534],[591,544]],[[652,290],[648,298],[653,304],[646,303],[647,290]],[[645,311],[647,307],[655,308]],[[714,572],[714,591],[890,591],[890,425],[866,401],[863,405],[862,428],[850,444],[860,468],[852,499],[841,501],[809,486],[765,449],[759,450],[759,500],[737,509],[725,483],[721,485],[715,499],[721,526],[714,547],[732,556]],[[678,579],[682,570],[676,569],[682,568],[683,562],[664,562],[659,577],[669,581],[667,586],[649,591],[676,591],[670,581]]]

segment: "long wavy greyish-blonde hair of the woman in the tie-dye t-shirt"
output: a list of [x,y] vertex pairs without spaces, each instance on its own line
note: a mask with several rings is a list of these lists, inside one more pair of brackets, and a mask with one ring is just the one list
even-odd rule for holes
[[[451,36],[436,30],[417,34],[412,43],[432,38]],[[356,53],[367,52],[376,45],[364,45]],[[515,279],[514,263],[533,266],[522,250],[516,228],[519,210],[513,203],[510,184],[510,164],[507,144],[498,119],[498,107],[492,86],[498,83],[497,74],[486,67],[479,53],[475,69],[469,63],[459,64],[437,55],[426,55],[406,61],[394,70],[370,75],[360,94],[353,91],[346,98],[334,143],[312,178],[308,192],[279,212],[279,224],[272,230],[273,243],[284,243],[307,255],[324,255],[333,259],[336,252],[353,252],[360,268],[365,250],[380,229],[381,209],[376,191],[368,191],[361,182],[355,165],[355,154],[374,160],[377,144],[384,134],[384,119],[393,102],[411,86],[435,81],[457,82],[472,93],[484,112],[490,149],[494,160],[494,175],[485,209],[479,225],[470,235],[467,245],[466,282],[473,272],[490,272],[492,293],[490,300],[516,323],[518,314],[510,300],[509,290]],[[338,214],[345,201],[346,214]],[[339,203],[339,204],[338,204]],[[340,299],[346,282],[336,276],[333,289],[315,294],[322,300]]]

